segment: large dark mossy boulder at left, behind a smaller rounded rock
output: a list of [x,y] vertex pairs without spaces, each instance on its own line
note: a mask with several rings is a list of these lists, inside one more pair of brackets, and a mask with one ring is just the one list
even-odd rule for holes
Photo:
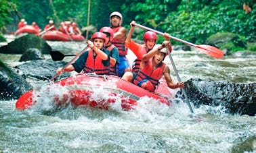
[[39,49],[43,54],[49,54],[51,47],[40,36],[35,34],[26,34],[7,45],[0,47],[0,53],[23,54],[28,49]]

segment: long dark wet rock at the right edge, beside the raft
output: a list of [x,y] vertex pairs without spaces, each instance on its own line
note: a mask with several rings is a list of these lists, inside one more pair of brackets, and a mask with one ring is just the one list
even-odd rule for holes
[[190,79],[185,88],[195,104],[226,106],[228,113],[256,114],[256,83],[234,84]]

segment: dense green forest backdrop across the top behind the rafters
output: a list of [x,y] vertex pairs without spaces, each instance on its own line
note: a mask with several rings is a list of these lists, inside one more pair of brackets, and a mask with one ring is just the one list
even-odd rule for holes
[[[86,30],[91,34],[109,26],[110,13],[119,11],[127,30],[135,20],[196,44],[204,44],[218,32],[230,32],[255,47],[255,6],[255,0],[1,0],[0,27],[3,34],[15,32],[21,18],[28,24],[37,22],[42,29],[49,20],[54,20],[57,28],[60,22],[70,20],[77,22],[83,34]],[[144,31],[134,33],[134,38],[141,40]]]

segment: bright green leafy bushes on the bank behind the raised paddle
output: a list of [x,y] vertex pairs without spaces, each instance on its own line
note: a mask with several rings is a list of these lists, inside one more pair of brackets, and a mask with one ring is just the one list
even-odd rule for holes
[[177,11],[167,11],[163,1],[152,3],[134,2],[131,5],[131,11],[140,13],[135,16],[136,22],[196,44],[205,43],[217,32],[232,32],[255,41],[255,9],[245,13],[242,0],[232,1],[232,5],[229,0],[183,0]]

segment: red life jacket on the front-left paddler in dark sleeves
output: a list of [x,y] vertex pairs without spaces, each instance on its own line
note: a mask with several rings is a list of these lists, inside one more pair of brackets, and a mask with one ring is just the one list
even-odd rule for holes
[[99,56],[93,57],[93,50],[89,50],[88,57],[85,62],[85,73],[93,73],[99,75],[109,75],[109,66],[105,66],[102,63],[102,59]]

